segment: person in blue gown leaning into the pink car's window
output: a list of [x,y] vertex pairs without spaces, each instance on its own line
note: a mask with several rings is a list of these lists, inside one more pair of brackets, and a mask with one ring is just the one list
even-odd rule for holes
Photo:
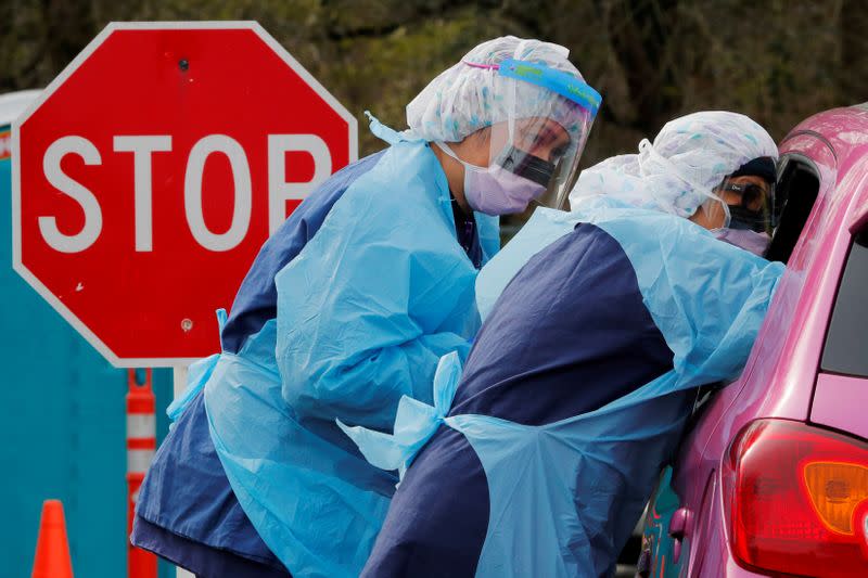
[[362,576],[613,575],[695,388],[739,374],[782,272],[754,254],[776,157],[749,118],[697,113],[583,171],[572,211],[535,211],[478,275],[463,375],[444,356],[394,435],[342,420],[403,475]]

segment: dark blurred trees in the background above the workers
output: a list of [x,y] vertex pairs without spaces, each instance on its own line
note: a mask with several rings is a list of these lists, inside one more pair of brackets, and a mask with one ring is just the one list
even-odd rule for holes
[[[112,21],[255,20],[366,127],[483,39],[566,46],[603,107],[583,164],[630,152],[669,118],[724,108],[782,138],[868,100],[868,4],[856,0],[2,0],[0,92],[42,87]],[[360,154],[381,147],[360,130]]]

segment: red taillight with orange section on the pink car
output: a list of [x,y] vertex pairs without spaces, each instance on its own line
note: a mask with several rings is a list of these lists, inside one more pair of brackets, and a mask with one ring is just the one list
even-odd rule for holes
[[757,569],[868,576],[868,444],[799,422],[761,420],[723,464],[732,553]]

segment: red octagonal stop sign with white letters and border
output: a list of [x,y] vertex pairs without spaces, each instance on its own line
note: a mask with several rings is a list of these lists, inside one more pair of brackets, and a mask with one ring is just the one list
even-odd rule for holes
[[115,365],[189,362],[356,151],[355,118],[258,24],[111,24],[13,127],[13,267]]

